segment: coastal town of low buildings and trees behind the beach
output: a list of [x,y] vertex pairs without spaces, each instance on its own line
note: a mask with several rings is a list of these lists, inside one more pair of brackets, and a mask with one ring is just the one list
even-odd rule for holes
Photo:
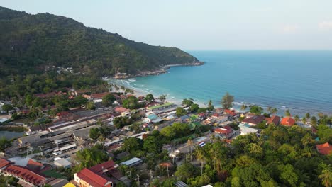
[[[160,182],[162,186],[167,182],[172,183],[170,186],[209,185],[204,180],[197,185],[187,184],[189,171],[180,171],[181,167],[188,170],[198,166],[203,174],[204,147],[232,149],[232,142],[239,136],[260,138],[262,130],[277,126],[304,128],[316,136],[316,140],[307,137],[307,144],[321,142],[321,138],[326,142],[316,143],[316,151],[332,153],[328,143],[331,134],[316,135],[314,116],[299,120],[287,111],[281,118],[275,115],[276,108],[262,114],[259,106],[243,106],[243,111],[248,110],[235,111],[230,109],[233,96],[229,94],[223,96],[223,108],[214,108],[211,101],[206,108],[199,108],[191,99],[176,105],[167,102],[165,95],[136,97],[129,94],[133,93],[130,89],[112,86],[116,91],[91,94],[88,89],[69,89],[34,94],[33,98],[40,101],[66,97],[81,103],[54,115],[51,111],[57,106],[41,108],[41,123],[33,125],[16,122],[31,111],[1,101],[1,113],[11,116],[1,119],[1,127],[26,129],[22,137],[1,140],[1,175],[16,178],[21,186],[157,186],[153,183]],[[220,166],[214,166],[218,175],[222,174]]]

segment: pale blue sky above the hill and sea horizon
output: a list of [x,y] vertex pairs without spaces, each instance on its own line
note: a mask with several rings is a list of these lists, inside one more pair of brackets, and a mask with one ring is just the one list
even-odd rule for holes
[[332,50],[331,0],[0,0],[184,50]]

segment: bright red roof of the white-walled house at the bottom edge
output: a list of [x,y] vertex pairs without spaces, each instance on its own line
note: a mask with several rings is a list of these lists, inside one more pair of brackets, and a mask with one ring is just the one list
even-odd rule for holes
[[107,183],[111,182],[111,179],[106,178],[106,176],[101,176],[99,174],[94,173],[90,169],[84,168],[82,171],[77,173],[79,179],[89,183],[89,185],[94,187],[103,187],[103,186],[110,186]]

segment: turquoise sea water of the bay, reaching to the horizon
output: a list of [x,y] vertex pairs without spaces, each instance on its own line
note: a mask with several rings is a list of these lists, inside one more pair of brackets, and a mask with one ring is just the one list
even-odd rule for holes
[[295,114],[332,113],[332,51],[190,51],[206,62],[172,67],[167,74],[117,81],[155,96],[220,106],[228,91],[243,103]]

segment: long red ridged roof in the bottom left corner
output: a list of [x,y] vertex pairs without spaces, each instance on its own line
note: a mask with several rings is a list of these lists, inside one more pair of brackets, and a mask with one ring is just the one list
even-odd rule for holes
[[16,176],[18,178],[24,179],[29,183],[33,183],[34,185],[40,186],[46,182],[45,176],[37,174],[29,169],[26,169],[21,166],[8,166],[4,171],[8,174]]

